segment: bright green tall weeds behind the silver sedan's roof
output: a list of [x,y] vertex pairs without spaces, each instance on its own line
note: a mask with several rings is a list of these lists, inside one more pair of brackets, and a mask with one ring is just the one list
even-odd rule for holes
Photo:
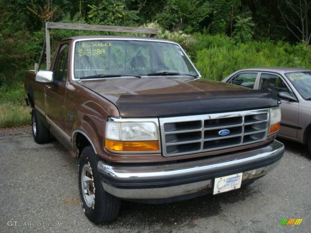
[[235,43],[226,36],[197,34],[190,46],[195,65],[203,78],[222,80],[239,69],[250,67],[311,68],[311,48],[302,44],[270,41]]

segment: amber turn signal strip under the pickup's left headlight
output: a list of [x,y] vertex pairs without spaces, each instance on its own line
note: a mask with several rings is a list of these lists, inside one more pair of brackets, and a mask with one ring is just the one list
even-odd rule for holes
[[159,151],[158,141],[113,141],[105,139],[105,147],[111,151],[118,152],[142,152],[142,151]]

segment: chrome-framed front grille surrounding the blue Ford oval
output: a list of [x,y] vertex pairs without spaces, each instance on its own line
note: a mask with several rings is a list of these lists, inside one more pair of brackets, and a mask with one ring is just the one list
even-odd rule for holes
[[[268,134],[268,119],[269,109],[160,118],[163,155],[200,153],[263,141]],[[220,135],[221,130],[230,133]]]

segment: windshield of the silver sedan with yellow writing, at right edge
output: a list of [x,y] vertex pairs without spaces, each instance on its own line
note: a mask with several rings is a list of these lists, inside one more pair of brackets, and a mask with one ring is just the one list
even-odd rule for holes
[[311,98],[311,72],[292,72],[285,76],[294,85],[302,98]]

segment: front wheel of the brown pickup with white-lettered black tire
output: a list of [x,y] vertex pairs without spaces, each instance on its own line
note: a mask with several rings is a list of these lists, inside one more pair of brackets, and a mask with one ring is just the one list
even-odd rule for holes
[[107,193],[101,184],[97,162],[93,148],[85,147],[78,169],[80,200],[86,217],[95,224],[114,220],[120,209],[120,199]]

